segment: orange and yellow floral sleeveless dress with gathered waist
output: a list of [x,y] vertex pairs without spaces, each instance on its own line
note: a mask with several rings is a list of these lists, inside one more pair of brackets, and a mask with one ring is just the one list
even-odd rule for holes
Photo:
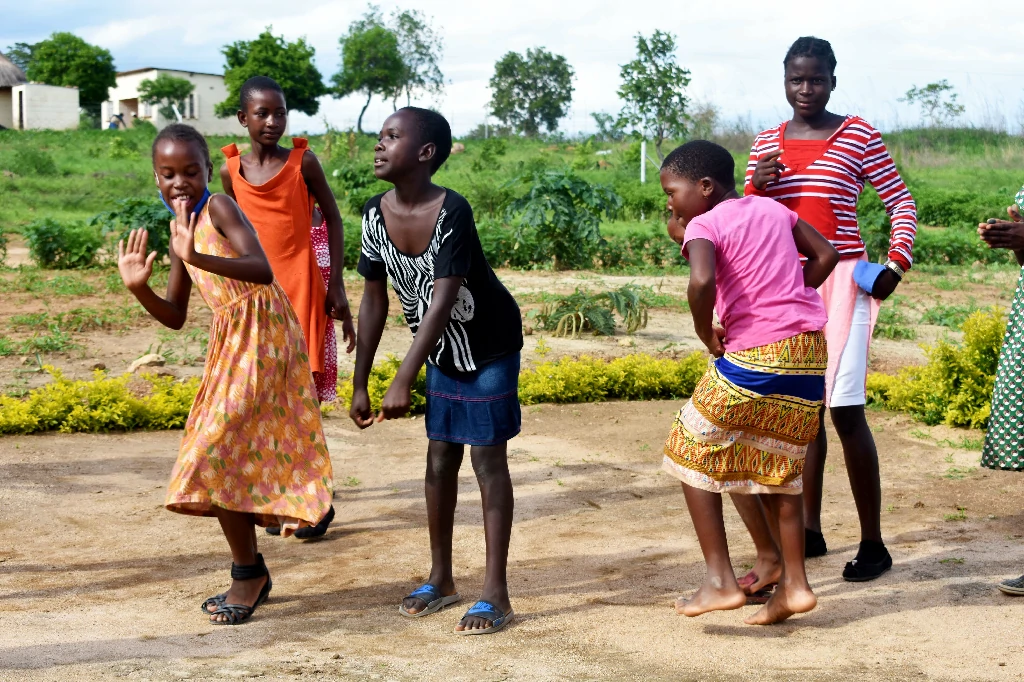
[[[308,238],[307,238],[308,239]],[[210,221],[196,250],[237,258]],[[222,278],[185,264],[213,310],[206,369],[185,423],[165,505],[254,514],[285,535],[331,508],[333,473],[299,321],[281,286]]]

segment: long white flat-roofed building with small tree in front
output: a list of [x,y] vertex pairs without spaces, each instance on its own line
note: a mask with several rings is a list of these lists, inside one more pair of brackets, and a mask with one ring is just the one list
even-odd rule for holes
[[221,119],[213,113],[218,102],[227,98],[227,87],[224,77],[218,74],[200,74],[191,71],[175,69],[135,69],[118,74],[117,85],[111,89],[110,101],[100,106],[100,121],[106,127],[111,118],[117,114],[123,116],[126,125],[131,126],[135,117],[153,123],[157,128],[163,128],[175,119],[165,119],[158,104],[146,104],[139,101],[138,86],[142,81],[156,80],[160,74],[175,78],[183,78],[196,86],[196,89],[184,102],[181,122],[187,123],[204,135],[239,135],[245,131],[233,116]]

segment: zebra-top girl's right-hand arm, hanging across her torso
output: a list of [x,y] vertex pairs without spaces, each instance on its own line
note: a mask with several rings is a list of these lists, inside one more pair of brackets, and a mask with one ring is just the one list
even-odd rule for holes
[[430,299],[430,306],[420,322],[420,329],[416,332],[416,338],[409,352],[406,353],[406,359],[401,361],[394,381],[384,395],[379,420],[396,419],[409,412],[412,404],[413,381],[452,318],[452,308],[459,296],[462,280],[461,276],[434,280],[434,293]]

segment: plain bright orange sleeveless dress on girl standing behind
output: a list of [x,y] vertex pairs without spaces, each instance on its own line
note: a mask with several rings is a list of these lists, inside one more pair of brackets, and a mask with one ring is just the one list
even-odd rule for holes
[[242,157],[233,142],[220,151],[227,158],[234,200],[256,228],[273,276],[288,294],[302,325],[309,368],[323,372],[324,342],[327,326],[332,323],[324,309],[327,288],[309,241],[313,198],[302,177],[302,155],[307,142],[293,137],[292,144],[285,166],[263,184],[251,184],[242,177]]

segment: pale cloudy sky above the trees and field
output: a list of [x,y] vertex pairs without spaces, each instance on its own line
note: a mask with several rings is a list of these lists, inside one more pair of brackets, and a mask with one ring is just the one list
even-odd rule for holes
[[[442,71],[451,81],[440,101],[456,132],[484,120],[494,63],[504,53],[544,46],[563,54],[577,74],[565,132],[593,129],[592,112],[615,112],[620,65],[634,54],[634,36],[676,34],[679,61],[692,72],[690,94],[716,104],[726,119],[773,124],[787,117],[781,59],[793,40],[831,41],[839,58],[833,111],[856,113],[882,128],[918,123],[916,110],[897,99],[912,85],[947,79],[979,125],[1024,129],[1024,19],[1019,3],[975,0],[697,3],[653,0],[382,1],[421,9],[443,37]],[[226,0],[0,0],[0,50],[71,31],[114,54],[120,71],[138,67],[220,73],[220,48],[251,39],[264,27],[289,40],[305,36],[316,48],[325,80],[338,69],[338,37],[366,10],[356,0],[246,3]],[[244,10],[244,11],[243,11]],[[296,115],[293,130],[317,131],[323,117],[354,124],[361,99],[325,98],[313,118]],[[376,129],[390,108],[371,104],[365,127]]]

